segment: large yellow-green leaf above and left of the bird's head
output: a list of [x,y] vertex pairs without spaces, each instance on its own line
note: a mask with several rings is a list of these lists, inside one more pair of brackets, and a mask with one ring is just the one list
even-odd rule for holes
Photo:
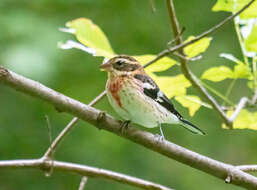
[[79,42],[95,50],[96,56],[111,58],[115,55],[104,32],[87,18],[78,18],[67,23],[75,30]]

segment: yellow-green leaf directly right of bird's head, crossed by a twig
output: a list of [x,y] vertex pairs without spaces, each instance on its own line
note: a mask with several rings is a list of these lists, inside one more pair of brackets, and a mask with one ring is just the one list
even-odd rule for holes
[[[142,65],[147,64],[149,61],[156,58],[156,55],[139,55],[134,56]],[[145,68],[146,72],[162,72],[166,71],[173,65],[175,65],[177,62],[169,57],[163,57],[156,61],[155,63],[149,65]]]

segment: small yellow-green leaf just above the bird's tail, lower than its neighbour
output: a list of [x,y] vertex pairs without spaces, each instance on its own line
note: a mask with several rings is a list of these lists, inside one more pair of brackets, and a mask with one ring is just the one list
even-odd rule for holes
[[189,115],[193,116],[197,110],[201,107],[200,98],[192,95],[176,96],[175,99],[183,106],[188,108]]

